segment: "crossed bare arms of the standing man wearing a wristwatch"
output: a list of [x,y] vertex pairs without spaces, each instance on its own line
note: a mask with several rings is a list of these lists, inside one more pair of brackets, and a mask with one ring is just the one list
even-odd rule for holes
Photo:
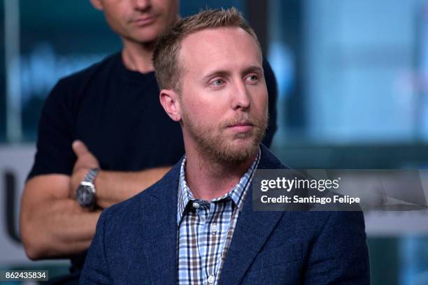
[[83,142],[74,142],[78,157],[71,176],[50,174],[31,178],[21,200],[20,233],[31,259],[59,258],[78,254],[90,246],[101,210],[126,200],[157,182],[169,167],[139,172],[101,170],[95,179],[97,210],[80,207],[75,195],[78,184],[97,158]]

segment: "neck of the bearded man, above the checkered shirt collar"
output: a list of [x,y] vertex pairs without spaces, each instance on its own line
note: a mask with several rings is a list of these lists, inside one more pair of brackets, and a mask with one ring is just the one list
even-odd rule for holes
[[243,162],[213,161],[186,149],[186,182],[195,198],[213,200],[235,187],[256,157],[257,152]]

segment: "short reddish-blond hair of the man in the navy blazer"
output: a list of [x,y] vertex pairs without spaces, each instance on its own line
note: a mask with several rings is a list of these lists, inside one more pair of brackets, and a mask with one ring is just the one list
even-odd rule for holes
[[261,50],[254,30],[236,8],[203,10],[196,15],[178,20],[159,36],[153,52],[153,65],[159,87],[161,89],[180,90],[178,52],[186,36],[204,29],[222,27],[243,29],[255,39],[259,50]]

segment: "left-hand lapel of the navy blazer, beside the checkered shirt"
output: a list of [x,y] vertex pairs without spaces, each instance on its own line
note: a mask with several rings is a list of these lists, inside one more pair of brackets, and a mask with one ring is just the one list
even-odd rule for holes
[[[152,284],[177,283],[177,189],[180,163],[142,199],[142,247]],[[148,198],[148,199],[147,199]]]

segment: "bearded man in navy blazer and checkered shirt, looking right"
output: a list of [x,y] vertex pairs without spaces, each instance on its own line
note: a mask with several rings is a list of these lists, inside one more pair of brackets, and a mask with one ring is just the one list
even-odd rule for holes
[[81,284],[369,284],[362,212],[252,210],[252,175],[285,166],[260,145],[262,53],[241,14],[180,20],[153,60],[186,154],[104,210]]

